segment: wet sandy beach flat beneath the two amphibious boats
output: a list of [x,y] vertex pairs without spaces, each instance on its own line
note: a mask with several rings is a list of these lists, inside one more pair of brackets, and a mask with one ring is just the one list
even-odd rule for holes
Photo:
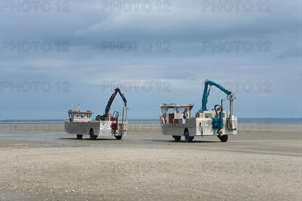
[[156,122],[95,141],[62,125],[1,124],[1,200],[301,200],[300,122],[242,122],[226,143],[175,142]]

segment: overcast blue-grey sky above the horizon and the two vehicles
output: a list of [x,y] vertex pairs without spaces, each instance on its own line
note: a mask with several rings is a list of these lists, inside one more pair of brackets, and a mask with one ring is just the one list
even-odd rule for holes
[[[0,119],[66,119],[71,103],[103,114],[117,86],[131,119],[158,118],[164,102],[197,111],[205,79],[236,93],[238,117],[301,118],[301,8],[301,1],[1,1]],[[225,97],[213,88],[208,109]],[[121,108],[117,96],[112,111]]]

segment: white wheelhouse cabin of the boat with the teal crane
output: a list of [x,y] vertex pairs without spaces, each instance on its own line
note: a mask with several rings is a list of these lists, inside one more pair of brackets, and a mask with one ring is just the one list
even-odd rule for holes
[[[164,124],[184,124],[186,118],[191,118],[191,110],[194,104],[190,105],[175,105],[173,104],[163,104],[160,106],[162,109],[162,122]],[[185,118],[184,113],[187,109],[188,116]]]

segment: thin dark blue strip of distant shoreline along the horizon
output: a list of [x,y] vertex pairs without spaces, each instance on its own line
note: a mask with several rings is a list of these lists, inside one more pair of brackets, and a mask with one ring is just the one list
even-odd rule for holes
[[[0,120],[0,122],[64,122],[65,119]],[[128,119],[129,122],[158,122],[159,119]],[[238,118],[239,122],[302,122],[302,118]]]

